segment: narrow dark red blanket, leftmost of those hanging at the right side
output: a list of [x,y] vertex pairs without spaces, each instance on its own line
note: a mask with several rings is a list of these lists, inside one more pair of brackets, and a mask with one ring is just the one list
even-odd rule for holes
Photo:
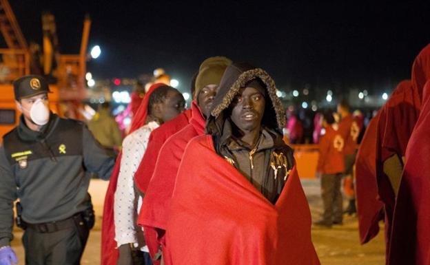
[[376,184],[376,131],[380,112],[371,119],[356,158],[356,199],[360,242],[365,244],[378,235],[382,202]]

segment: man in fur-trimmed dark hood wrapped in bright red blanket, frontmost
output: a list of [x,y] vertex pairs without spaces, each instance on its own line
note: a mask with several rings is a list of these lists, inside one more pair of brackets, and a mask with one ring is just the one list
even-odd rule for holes
[[319,264],[272,78],[227,67],[208,135],[183,154],[167,221],[172,264]]

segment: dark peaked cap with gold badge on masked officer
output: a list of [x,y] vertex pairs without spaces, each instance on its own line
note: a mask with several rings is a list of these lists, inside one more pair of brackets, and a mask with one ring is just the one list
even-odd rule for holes
[[30,98],[43,93],[50,93],[48,82],[42,76],[29,75],[13,82],[15,99]]

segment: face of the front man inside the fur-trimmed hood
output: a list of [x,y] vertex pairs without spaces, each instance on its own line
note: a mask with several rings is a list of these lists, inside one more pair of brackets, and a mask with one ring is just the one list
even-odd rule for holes
[[244,134],[260,131],[265,98],[254,87],[240,89],[232,103],[232,121]]

